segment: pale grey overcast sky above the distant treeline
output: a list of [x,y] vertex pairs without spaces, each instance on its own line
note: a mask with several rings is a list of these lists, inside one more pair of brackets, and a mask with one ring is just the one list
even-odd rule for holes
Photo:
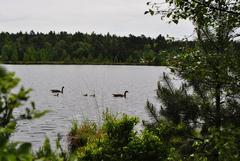
[[184,38],[189,22],[178,25],[144,15],[149,0],[0,0],[0,31],[95,32]]

